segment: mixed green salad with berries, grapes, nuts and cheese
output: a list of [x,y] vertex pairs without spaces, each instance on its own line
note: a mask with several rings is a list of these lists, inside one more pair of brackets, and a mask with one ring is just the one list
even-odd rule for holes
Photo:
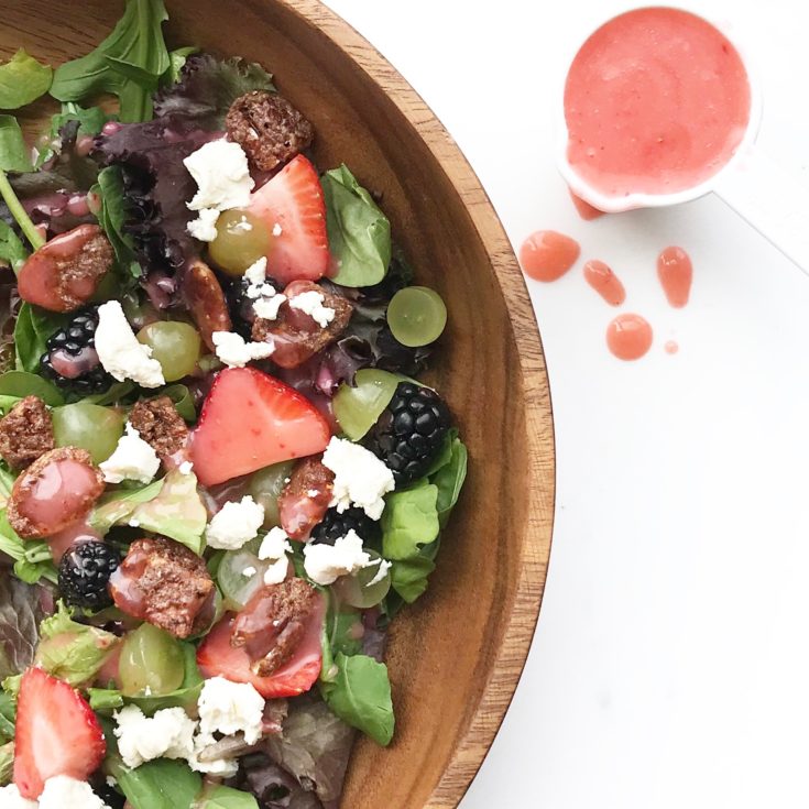
[[466,477],[380,200],[166,19],[0,65],[4,809],[338,807]]

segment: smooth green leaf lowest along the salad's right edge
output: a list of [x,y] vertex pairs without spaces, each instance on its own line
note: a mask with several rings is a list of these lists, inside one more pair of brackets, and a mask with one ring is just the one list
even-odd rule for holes
[[332,682],[320,684],[329,708],[352,728],[386,746],[393,739],[394,715],[387,666],[368,655],[335,658],[338,668]]

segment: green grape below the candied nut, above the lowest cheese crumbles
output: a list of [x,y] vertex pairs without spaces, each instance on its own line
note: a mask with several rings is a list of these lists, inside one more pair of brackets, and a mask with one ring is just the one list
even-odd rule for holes
[[176,691],[185,678],[185,658],[179,642],[152,624],[141,624],[121,645],[119,664],[124,697],[162,697]]

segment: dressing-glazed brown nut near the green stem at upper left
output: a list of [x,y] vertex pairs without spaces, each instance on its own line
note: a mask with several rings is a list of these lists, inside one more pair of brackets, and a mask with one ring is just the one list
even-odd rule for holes
[[98,225],[80,225],[43,244],[20,269],[20,297],[50,311],[74,311],[94,295],[114,252]]

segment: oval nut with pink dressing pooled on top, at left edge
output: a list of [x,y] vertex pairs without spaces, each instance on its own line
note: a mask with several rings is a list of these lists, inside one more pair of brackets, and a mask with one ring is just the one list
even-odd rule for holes
[[103,487],[103,475],[87,450],[52,449],[14,481],[9,524],[25,539],[52,536],[81,520]]

